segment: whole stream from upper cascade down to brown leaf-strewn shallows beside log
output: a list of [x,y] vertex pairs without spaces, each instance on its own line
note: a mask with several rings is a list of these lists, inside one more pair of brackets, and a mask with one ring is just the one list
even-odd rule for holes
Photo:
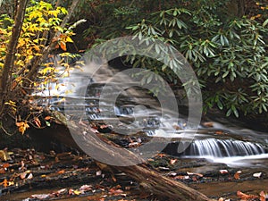
[[[59,59],[55,58],[54,63]],[[267,190],[266,132],[249,130],[235,121],[214,116],[210,116],[209,121],[202,120],[196,127],[187,120],[188,100],[180,96],[183,90],[172,88],[180,111],[178,118],[173,111],[163,112],[157,98],[128,75],[121,74],[120,79],[113,79],[125,69],[104,63],[86,63],[86,67],[84,71],[71,72],[70,78],[60,79],[60,88],[55,89],[55,84],[50,83],[49,90],[36,91],[33,94],[37,97],[36,104],[66,113],[71,120],[87,123],[121,147],[129,148],[131,144],[138,150],[151,138],[167,138],[169,143],[160,151],[168,156],[157,156],[161,161],[156,163],[153,153],[150,163],[163,174],[186,182],[210,197],[236,200],[238,190],[257,195]],[[130,87],[125,88],[128,85]],[[120,92],[115,100],[114,91]],[[171,163],[174,158],[178,160],[176,165]],[[238,171],[242,172],[240,178],[233,179]],[[192,174],[188,176],[186,172],[202,173],[202,179]],[[260,172],[261,175],[256,176],[255,173]]]

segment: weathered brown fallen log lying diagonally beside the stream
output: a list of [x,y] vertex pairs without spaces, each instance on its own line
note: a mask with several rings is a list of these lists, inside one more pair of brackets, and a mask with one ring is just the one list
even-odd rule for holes
[[[68,121],[62,113],[53,112],[52,116],[55,121],[62,123],[62,127],[70,130],[72,138],[80,145],[79,147],[82,150],[88,150],[92,154],[89,156],[93,156],[93,158],[96,158],[96,156],[104,157],[102,162],[96,162],[101,169],[108,170],[109,172],[125,172],[131,179],[138,181],[143,191],[146,190],[152,193],[160,200],[210,200],[196,189],[189,188],[180,181],[164,177],[149,167],[147,162],[138,157],[138,155],[135,155],[128,149],[121,148],[107,138],[96,136],[96,133],[88,130],[85,125]],[[63,139],[63,137],[60,138]],[[71,146],[73,147],[74,145],[75,143]],[[130,165],[109,165],[103,163],[105,160],[108,162],[114,160],[114,158],[120,164]],[[116,164],[115,161],[114,163]]]

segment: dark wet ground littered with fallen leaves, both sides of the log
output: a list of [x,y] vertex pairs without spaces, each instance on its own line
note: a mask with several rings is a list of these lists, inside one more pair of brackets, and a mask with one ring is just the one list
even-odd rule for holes
[[[158,200],[143,192],[123,172],[100,170],[88,155],[13,148],[1,150],[0,156],[1,201]],[[204,159],[164,154],[155,155],[148,163],[163,175],[187,183],[214,200],[265,201],[268,197],[268,170],[264,167],[230,168]]]

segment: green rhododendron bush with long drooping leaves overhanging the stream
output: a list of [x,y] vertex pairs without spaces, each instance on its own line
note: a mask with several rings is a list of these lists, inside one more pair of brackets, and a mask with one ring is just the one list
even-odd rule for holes
[[[237,117],[240,113],[267,112],[266,22],[246,17],[222,18],[215,6],[199,2],[202,6],[197,10],[161,11],[128,29],[140,38],[170,43],[185,55],[203,85],[205,111],[218,106],[227,116]],[[135,66],[155,69],[146,59],[138,57],[131,61]],[[170,74],[164,66],[156,69]]]

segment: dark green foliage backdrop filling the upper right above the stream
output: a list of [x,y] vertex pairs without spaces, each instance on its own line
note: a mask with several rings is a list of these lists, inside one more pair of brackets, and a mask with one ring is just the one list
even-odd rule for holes
[[[218,107],[227,115],[266,113],[268,7],[264,0],[244,3],[230,0],[82,2],[90,5],[91,25],[84,36],[94,41],[91,45],[126,35],[172,44],[196,71],[205,111]],[[157,54],[165,51],[157,44],[150,48],[155,48]],[[180,63],[172,59],[155,61],[129,55],[125,61],[181,85],[174,73],[180,70]],[[143,82],[151,79],[144,75]],[[191,82],[188,80],[184,86],[195,84]]]

